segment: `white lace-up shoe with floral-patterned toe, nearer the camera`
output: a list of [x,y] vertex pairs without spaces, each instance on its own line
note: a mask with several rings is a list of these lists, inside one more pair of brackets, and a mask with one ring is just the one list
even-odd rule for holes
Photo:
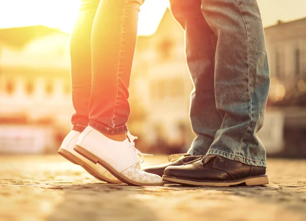
[[[143,155],[135,148],[137,137],[127,132],[129,139],[113,141],[88,126],[80,135],[74,150],[93,163],[98,163],[122,182],[139,186],[161,186],[163,179],[140,170]],[[129,141],[130,140],[130,141]],[[139,159],[138,154],[142,157]]]

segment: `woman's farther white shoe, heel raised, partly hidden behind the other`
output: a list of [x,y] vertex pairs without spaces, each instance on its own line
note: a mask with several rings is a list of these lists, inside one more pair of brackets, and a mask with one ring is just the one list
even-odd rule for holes
[[81,165],[89,174],[101,181],[108,183],[122,183],[116,177],[111,175],[110,172],[108,172],[104,167],[90,162],[88,159],[73,150],[73,147],[77,143],[80,134],[81,133],[78,131],[71,130],[65,137],[58,153],[74,164]]

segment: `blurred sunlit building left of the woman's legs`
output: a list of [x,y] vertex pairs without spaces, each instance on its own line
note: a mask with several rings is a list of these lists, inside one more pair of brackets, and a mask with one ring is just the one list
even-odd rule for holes
[[42,151],[55,144],[52,131],[71,127],[69,38],[45,26],[0,30],[0,151],[25,140],[36,149],[37,129],[52,137]]

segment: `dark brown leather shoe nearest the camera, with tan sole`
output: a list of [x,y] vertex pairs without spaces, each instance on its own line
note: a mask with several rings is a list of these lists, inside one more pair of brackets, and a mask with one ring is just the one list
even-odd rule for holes
[[266,168],[208,155],[181,166],[167,167],[163,180],[194,186],[247,186],[268,184]]

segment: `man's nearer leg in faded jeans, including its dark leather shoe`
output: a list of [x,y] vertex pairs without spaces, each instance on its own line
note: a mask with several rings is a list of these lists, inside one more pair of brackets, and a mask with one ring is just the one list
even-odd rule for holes
[[202,0],[216,38],[216,107],[223,121],[207,156],[167,167],[168,182],[199,186],[268,184],[265,148],[257,137],[269,91],[269,68],[256,0]]

